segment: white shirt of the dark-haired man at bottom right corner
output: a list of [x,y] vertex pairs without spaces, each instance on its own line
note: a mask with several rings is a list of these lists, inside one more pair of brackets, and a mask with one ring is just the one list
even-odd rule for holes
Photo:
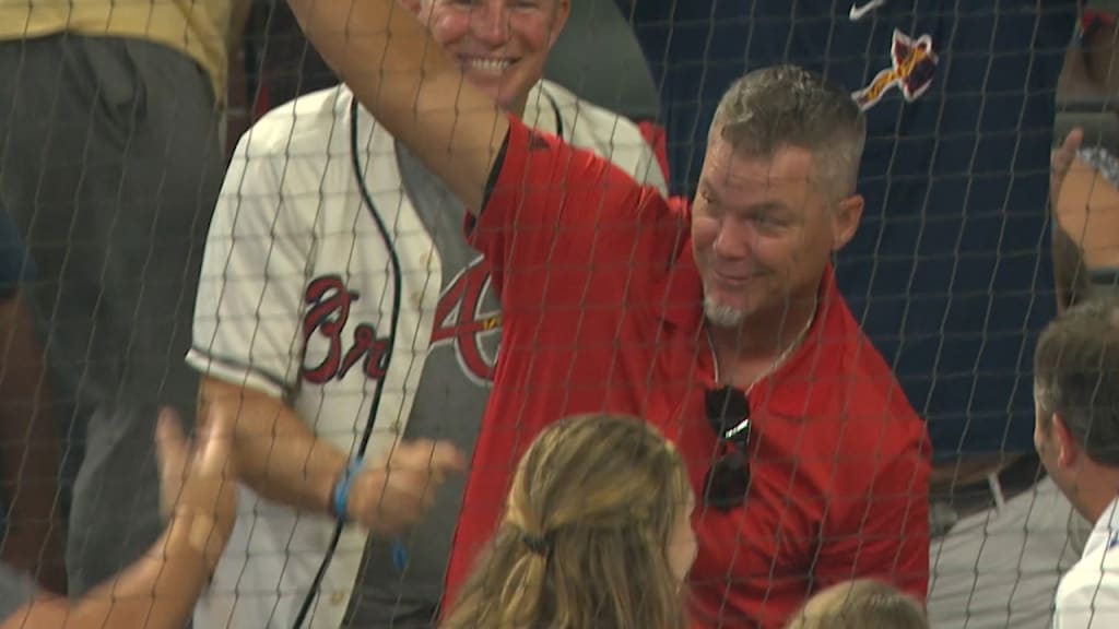
[[1119,627],[1119,499],[1096,523],[1084,553],[1056,591],[1053,629]]

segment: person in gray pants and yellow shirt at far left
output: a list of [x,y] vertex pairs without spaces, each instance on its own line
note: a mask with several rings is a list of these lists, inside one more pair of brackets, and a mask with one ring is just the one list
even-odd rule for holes
[[[229,50],[250,0],[0,0],[0,204],[66,434],[68,591],[161,529],[153,417],[195,419],[190,298],[222,181]],[[76,470],[74,466],[76,464]],[[66,484],[70,487],[70,484]]]

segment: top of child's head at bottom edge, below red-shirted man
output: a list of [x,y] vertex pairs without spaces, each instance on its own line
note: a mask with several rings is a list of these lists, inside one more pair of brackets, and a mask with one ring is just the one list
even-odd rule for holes
[[817,593],[787,629],[929,629],[929,618],[893,585],[859,579]]

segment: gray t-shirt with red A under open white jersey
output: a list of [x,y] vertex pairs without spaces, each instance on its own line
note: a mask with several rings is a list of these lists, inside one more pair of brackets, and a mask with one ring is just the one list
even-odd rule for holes
[[[466,208],[403,145],[396,145],[396,159],[402,184],[443,265],[433,342],[404,436],[446,439],[473,452],[497,362],[501,307],[481,254],[462,235]],[[392,544],[370,536],[348,627],[433,626],[464,489],[460,476],[440,488],[427,517],[402,541],[408,552],[403,572],[394,567]]]

